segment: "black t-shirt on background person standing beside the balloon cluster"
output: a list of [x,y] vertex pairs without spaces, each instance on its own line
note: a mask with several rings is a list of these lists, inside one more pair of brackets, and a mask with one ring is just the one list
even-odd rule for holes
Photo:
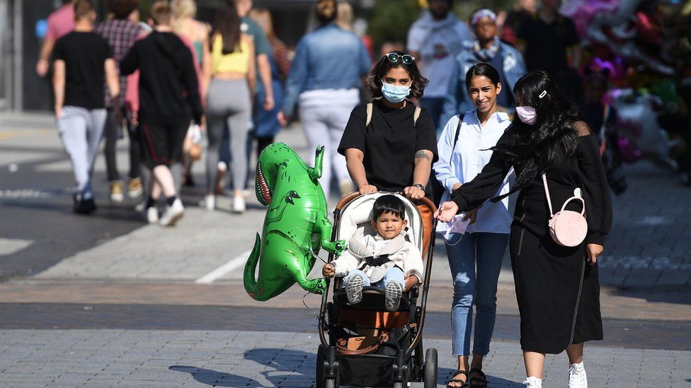
[[525,42],[528,71],[544,70],[553,76],[569,68],[566,49],[581,41],[576,25],[564,16],[557,16],[549,24],[538,16],[529,16],[520,24],[518,39]]

